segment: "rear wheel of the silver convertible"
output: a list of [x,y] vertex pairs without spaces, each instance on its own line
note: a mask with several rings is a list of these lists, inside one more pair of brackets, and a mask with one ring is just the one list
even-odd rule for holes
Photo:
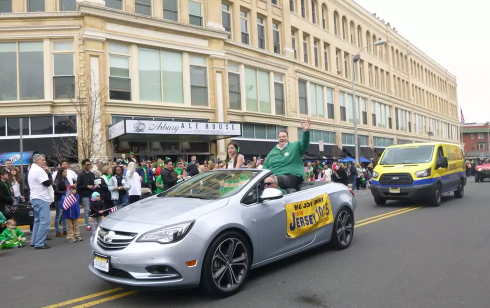
[[350,208],[343,206],[338,210],[333,222],[331,243],[335,248],[345,249],[354,235],[354,215]]

